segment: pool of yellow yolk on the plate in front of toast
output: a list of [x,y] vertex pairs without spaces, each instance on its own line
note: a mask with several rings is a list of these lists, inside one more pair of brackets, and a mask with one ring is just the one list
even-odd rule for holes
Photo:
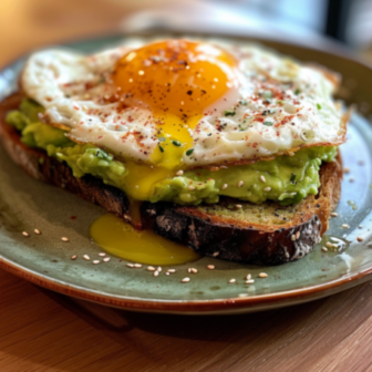
[[194,250],[151,230],[137,231],[123,219],[106,214],[91,226],[93,240],[111,255],[145,265],[180,265],[197,260]]

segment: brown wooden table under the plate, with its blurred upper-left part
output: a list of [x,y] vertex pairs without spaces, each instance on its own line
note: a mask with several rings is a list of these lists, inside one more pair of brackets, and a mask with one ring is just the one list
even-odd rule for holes
[[[0,65],[49,42],[113,31],[122,16],[114,1],[1,0]],[[276,311],[176,317],[73,300],[0,271],[4,372],[365,371],[371,326],[372,283]]]

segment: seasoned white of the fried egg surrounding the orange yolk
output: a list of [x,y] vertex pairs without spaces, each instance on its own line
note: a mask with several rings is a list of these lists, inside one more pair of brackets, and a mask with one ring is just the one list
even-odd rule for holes
[[[235,115],[225,115],[223,100],[207,110],[190,131],[194,152],[187,156],[185,148],[187,166],[248,162],[343,142],[342,113],[332,99],[335,85],[324,73],[254,44],[220,44],[239,61],[240,87],[228,100]],[[21,87],[45,108],[44,120],[68,130],[71,140],[149,162],[158,144],[152,112],[143,106],[123,110],[121,92],[104,83],[127,51],[124,44],[89,56],[63,50],[34,53]],[[259,92],[262,86],[280,89],[283,100],[268,100]],[[257,121],[264,112],[266,124]]]

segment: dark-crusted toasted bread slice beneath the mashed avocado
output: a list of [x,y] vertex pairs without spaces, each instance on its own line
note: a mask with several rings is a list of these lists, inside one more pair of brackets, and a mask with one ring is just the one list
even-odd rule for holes
[[297,260],[320,242],[328,229],[330,213],[340,198],[339,156],[335,162],[321,166],[318,195],[309,195],[297,205],[239,202],[241,208],[237,209],[237,200],[221,198],[216,205],[196,207],[144,202],[135,210],[118,188],[90,175],[75,178],[64,163],[21,143],[18,132],[4,121],[6,113],[17,108],[19,103],[17,94],[2,102],[0,135],[9,156],[30,176],[76,194],[140,228],[153,229],[204,256],[256,265]]

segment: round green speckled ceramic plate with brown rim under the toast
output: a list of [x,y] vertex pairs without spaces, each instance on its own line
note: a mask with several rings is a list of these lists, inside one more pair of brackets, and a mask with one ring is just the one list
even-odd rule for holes
[[[93,52],[120,42],[107,38],[70,45]],[[240,39],[241,40],[241,39]],[[348,103],[356,103],[369,114],[372,105],[372,70],[345,55],[280,42],[262,41],[304,61],[317,61],[344,78],[341,91]],[[16,89],[23,60],[0,72],[0,99]],[[297,262],[278,267],[242,266],[211,258],[193,264],[198,269],[189,283],[180,279],[189,265],[177,267],[167,277],[130,269],[113,258],[92,265],[82,259],[97,257],[100,247],[91,242],[90,225],[104,213],[62,189],[41,184],[14,166],[0,148],[0,267],[45,288],[123,309],[168,313],[240,313],[310,301],[339,292],[371,279],[372,273],[372,128],[366,118],[353,114],[348,143],[341,147],[351,172],[342,184],[342,196],[328,235],[344,236],[350,246],[342,252],[323,252],[321,246]],[[76,218],[71,218],[75,216]],[[348,224],[350,228],[342,228]],[[38,228],[41,235],[33,234]],[[22,236],[22,231],[30,236]],[[62,242],[61,237],[70,238]],[[359,242],[356,237],[363,237]],[[76,254],[79,258],[71,260]],[[215,270],[207,270],[213,264]],[[259,279],[265,271],[268,278]],[[250,272],[254,285],[245,285]],[[236,283],[228,285],[236,278]]]

